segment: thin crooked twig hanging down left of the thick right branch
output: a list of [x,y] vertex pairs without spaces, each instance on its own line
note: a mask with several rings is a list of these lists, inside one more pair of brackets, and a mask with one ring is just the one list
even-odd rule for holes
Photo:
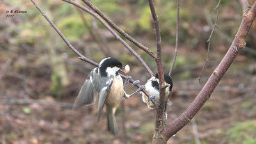
[[207,45],[207,56],[206,56],[206,61],[205,61],[205,64],[202,66],[202,71],[200,72],[199,76],[198,76],[198,82],[200,82],[201,80],[201,77],[202,77],[202,73],[205,71],[205,67],[207,65],[207,63],[209,62],[209,51],[210,51],[210,46],[211,46],[211,36],[214,34],[214,29],[217,26],[217,22],[218,22],[218,14],[219,14],[219,11],[220,11],[220,4],[221,4],[221,0],[218,1],[218,5],[214,8],[214,10],[217,10],[217,15],[216,15],[216,19],[215,19],[215,23],[214,23],[214,27],[213,29],[211,30],[211,34],[207,40],[208,42],[208,45]]

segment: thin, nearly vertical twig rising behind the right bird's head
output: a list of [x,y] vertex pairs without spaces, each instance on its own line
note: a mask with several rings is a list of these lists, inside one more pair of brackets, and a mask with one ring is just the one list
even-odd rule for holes
[[175,40],[175,54],[173,56],[173,64],[170,67],[169,76],[173,73],[173,67],[178,54],[178,42],[179,42],[179,0],[177,0],[177,20],[176,20],[176,40]]

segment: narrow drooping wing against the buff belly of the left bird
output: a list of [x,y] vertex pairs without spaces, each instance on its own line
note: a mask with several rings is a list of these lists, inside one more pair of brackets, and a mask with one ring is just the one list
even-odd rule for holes
[[99,121],[99,117],[100,114],[102,113],[102,109],[104,107],[104,104],[106,102],[107,97],[109,96],[109,92],[111,90],[111,86],[113,83],[113,79],[109,79],[108,81],[106,81],[106,83],[104,83],[104,87],[102,88],[102,90],[99,93],[99,105],[98,105],[98,118],[97,118],[97,122]]

